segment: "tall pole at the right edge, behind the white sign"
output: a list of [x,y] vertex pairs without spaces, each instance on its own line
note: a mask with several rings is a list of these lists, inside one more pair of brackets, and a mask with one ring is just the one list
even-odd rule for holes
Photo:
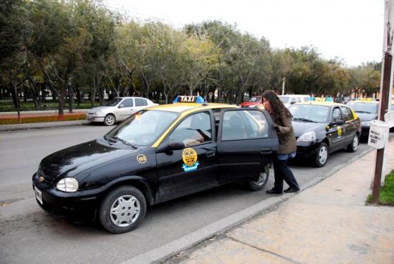
[[[384,120],[384,114],[388,111],[388,101],[390,100],[390,85],[393,76],[393,54],[391,45],[393,44],[393,7],[394,0],[385,0],[385,20],[383,34],[383,63],[382,63],[382,81],[381,81],[381,99],[379,101],[379,120]],[[374,187],[372,189],[372,203],[379,203],[379,189],[381,187],[381,177],[383,172],[383,149],[376,151],[376,163],[374,174]]]

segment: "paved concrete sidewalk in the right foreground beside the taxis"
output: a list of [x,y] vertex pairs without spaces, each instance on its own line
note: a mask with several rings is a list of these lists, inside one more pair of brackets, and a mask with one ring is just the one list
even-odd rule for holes
[[166,263],[394,263],[394,208],[365,206],[375,155]]

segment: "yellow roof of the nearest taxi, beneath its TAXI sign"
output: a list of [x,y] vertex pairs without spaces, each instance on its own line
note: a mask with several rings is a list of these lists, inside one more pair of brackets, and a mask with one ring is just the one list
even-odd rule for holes
[[169,111],[175,113],[196,112],[202,109],[218,109],[218,108],[239,108],[236,105],[227,103],[169,103],[160,106],[152,106],[146,108],[148,110]]

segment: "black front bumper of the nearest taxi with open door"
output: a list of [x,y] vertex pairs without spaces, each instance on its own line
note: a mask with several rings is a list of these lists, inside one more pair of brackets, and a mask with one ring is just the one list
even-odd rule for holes
[[104,188],[66,193],[46,182],[39,182],[38,175],[32,177],[32,186],[41,191],[42,203],[37,203],[46,212],[70,220],[90,221],[96,218],[96,210],[101,203]]

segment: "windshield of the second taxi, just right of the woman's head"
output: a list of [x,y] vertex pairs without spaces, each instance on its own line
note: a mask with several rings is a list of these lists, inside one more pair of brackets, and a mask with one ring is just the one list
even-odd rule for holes
[[329,109],[329,106],[313,104],[293,104],[288,108],[293,120],[301,122],[327,122]]

